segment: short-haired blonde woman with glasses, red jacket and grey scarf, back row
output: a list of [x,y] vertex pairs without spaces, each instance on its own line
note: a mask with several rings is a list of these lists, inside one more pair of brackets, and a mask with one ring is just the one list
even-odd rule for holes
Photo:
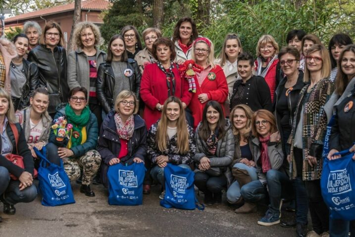
[[262,76],[270,89],[271,102],[274,101],[274,93],[280,81],[280,65],[277,54],[279,44],[271,35],[263,35],[259,38],[256,46],[255,72]]

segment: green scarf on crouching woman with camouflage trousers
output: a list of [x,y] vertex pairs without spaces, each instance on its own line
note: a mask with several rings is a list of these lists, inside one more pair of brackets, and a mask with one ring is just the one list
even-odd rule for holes
[[[67,123],[71,123],[73,125],[70,141],[71,147],[75,147],[81,144],[82,140],[82,129],[88,123],[90,119],[90,110],[89,107],[86,106],[84,110],[81,112],[81,115],[76,115],[73,109],[70,107],[69,104],[65,106],[65,115],[68,119]],[[73,134],[78,134],[79,136],[75,137]]]

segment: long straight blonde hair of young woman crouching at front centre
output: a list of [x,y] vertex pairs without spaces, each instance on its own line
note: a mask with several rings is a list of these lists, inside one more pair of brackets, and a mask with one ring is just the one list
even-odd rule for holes
[[176,147],[178,149],[179,154],[186,154],[189,152],[189,131],[187,122],[185,119],[185,110],[182,107],[182,102],[179,98],[175,96],[170,96],[166,99],[163,105],[163,111],[161,112],[161,118],[158,122],[158,126],[155,134],[156,147],[160,152],[163,152],[167,149],[167,126],[168,126],[168,118],[166,116],[166,107],[169,103],[175,102],[179,104],[180,107],[180,116],[177,119],[177,133],[176,133]]

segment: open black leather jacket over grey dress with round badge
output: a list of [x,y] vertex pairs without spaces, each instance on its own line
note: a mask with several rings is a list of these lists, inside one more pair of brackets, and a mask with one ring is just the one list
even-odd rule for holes
[[[128,77],[130,90],[134,92],[139,100],[139,92],[141,89],[141,71],[137,61],[134,59],[127,60],[127,68],[133,71]],[[96,84],[96,94],[103,110],[108,113],[113,108],[113,92],[115,88],[115,77],[110,62],[103,62],[98,69],[98,79]]]

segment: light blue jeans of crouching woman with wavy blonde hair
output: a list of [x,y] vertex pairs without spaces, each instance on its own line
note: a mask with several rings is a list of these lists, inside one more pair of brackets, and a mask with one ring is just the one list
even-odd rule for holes
[[[242,170],[246,170],[252,178],[252,181],[257,180],[257,174],[255,167],[249,167],[243,163],[237,163],[233,166],[233,168],[239,168]],[[235,180],[227,190],[227,201],[229,203],[236,203],[238,199],[241,197],[241,188],[237,180]]]

